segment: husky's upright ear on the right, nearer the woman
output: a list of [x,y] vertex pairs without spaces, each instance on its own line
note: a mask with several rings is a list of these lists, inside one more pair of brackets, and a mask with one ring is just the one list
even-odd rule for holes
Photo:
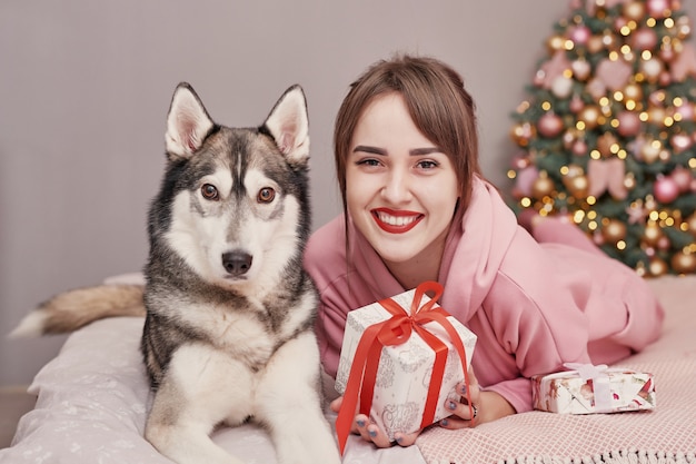
[[309,159],[309,119],[307,100],[300,86],[285,91],[266,118],[264,127],[290,164],[301,165]]

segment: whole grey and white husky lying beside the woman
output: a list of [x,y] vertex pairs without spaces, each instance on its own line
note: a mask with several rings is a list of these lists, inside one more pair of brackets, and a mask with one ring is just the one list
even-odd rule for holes
[[160,453],[179,464],[240,463],[209,434],[253,419],[280,463],[340,463],[321,407],[317,293],[302,269],[310,211],[301,88],[290,87],[260,127],[230,128],[180,83],[166,146],[145,288],[67,292],[16,335],[142,314],[145,300],[141,349],[155,392],[145,436]]

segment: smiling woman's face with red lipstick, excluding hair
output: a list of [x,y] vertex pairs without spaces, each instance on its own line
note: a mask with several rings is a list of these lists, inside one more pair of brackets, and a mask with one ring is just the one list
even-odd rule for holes
[[416,128],[401,95],[372,100],[352,135],[346,201],[387,266],[439,268],[458,197],[449,157]]

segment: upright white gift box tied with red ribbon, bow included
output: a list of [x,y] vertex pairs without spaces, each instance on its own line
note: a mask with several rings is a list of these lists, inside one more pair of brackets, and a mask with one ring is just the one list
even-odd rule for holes
[[348,313],[336,375],[341,451],[358,402],[389,440],[451,415],[446,399],[461,398],[455,389],[468,383],[476,335],[437,305],[441,292],[428,282]]

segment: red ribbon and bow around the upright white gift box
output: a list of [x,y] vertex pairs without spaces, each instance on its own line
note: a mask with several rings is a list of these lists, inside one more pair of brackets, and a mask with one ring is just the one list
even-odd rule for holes
[[[432,292],[435,296],[420,306],[422,296],[427,292]],[[379,304],[391,314],[391,318],[367,327],[360,337],[356,354],[350,366],[348,383],[344,392],[344,402],[336,419],[336,433],[340,453],[344,453],[348,435],[356,415],[358,398],[360,399],[360,414],[370,414],[372,397],[375,393],[375,381],[379,367],[379,358],[385,346],[396,346],[406,343],[415,330],[435,351],[435,364],[428,386],[428,398],[420,427],[430,425],[435,419],[437,401],[439,397],[445,366],[447,363],[447,345],[437,336],[429,333],[422,325],[437,322],[441,325],[455,349],[459,354],[461,368],[464,371],[464,382],[467,386],[467,401],[469,414],[473,416],[471,401],[469,399],[469,371],[467,368],[466,351],[461,338],[453,325],[447,320],[449,314],[441,307],[434,307],[437,299],[443,295],[443,286],[436,282],[425,282],[416,288],[414,300],[411,302],[410,314],[406,313],[391,298],[386,298]],[[474,422],[474,419],[471,419]]]

